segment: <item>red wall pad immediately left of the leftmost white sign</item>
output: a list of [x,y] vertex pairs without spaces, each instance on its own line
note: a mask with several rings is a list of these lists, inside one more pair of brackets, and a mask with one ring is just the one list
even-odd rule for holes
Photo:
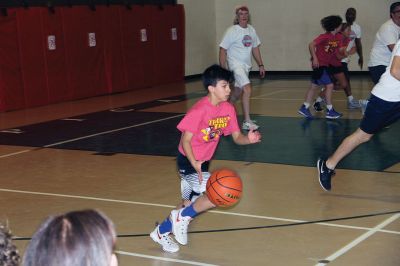
[[20,66],[26,107],[49,103],[41,22],[41,8],[17,10]]

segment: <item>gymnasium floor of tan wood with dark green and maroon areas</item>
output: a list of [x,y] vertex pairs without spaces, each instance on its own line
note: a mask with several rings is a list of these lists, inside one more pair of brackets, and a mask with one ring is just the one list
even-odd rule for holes
[[[189,244],[161,251],[148,234],[179,201],[176,124],[205,91],[200,81],[0,113],[0,220],[23,253],[50,214],[96,208],[116,224],[120,265],[400,265],[400,123],[338,166],[331,192],[316,160],[354,131],[361,113],[297,115],[308,78],[253,80],[262,143],[225,138],[211,169],[243,178],[242,200],[202,214]],[[372,88],[352,80],[356,98]],[[240,114],[241,108],[238,105]]]

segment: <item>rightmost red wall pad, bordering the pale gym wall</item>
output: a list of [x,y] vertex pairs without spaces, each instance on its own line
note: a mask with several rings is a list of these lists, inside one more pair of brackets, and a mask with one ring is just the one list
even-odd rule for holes
[[[154,64],[157,84],[181,81],[184,78],[185,65],[185,27],[183,5],[155,8],[153,25],[155,26]],[[176,29],[177,40],[172,40],[171,30]]]

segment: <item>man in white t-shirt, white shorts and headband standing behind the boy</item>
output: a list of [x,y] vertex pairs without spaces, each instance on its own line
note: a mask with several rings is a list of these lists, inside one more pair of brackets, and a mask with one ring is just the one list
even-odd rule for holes
[[249,24],[250,15],[247,6],[238,6],[235,9],[234,25],[229,27],[220,43],[219,63],[222,67],[231,70],[235,76],[235,89],[230,101],[235,102],[242,96],[245,130],[258,129],[255,121],[250,119],[251,83],[249,72],[252,66],[251,56],[256,60],[261,78],[265,76],[265,68],[260,53],[260,39],[256,30]]

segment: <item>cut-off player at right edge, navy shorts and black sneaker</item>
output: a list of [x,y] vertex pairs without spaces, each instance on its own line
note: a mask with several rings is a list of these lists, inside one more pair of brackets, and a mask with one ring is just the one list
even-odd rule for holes
[[372,89],[360,127],[343,140],[326,161],[319,159],[317,168],[321,187],[329,191],[336,165],[374,134],[400,119],[400,41],[397,41],[386,71]]

